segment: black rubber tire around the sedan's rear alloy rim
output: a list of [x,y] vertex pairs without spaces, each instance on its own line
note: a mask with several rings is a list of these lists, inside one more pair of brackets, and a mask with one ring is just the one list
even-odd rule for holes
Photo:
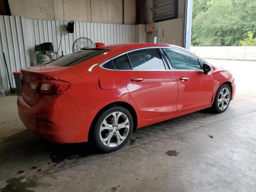
[[[109,116],[111,113],[113,113],[113,112],[122,112],[123,114],[125,114],[127,116],[128,120],[129,120],[130,128],[129,128],[128,134],[126,133],[127,136],[126,136],[125,140],[123,140],[121,144],[119,144],[118,146],[108,147],[105,144],[103,144],[103,142],[101,141],[101,138],[100,138],[100,134],[101,134],[100,133],[100,127],[102,125],[103,120],[107,116]],[[101,151],[103,151],[103,152],[113,152],[113,151],[116,151],[116,150],[122,148],[122,146],[124,146],[126,144],[126,142],[130,139],[130,136],[132,134],[132,130],[133,130],[133,118],[132,118],[132,115],[130,114],[130,112],[126,108],[124,108],[124,107],[113,106],[113,107],[107,109],[106,111],[104,111],[101,114],[101,116],[98,118],[98,120],[96,121],[96,125],[95,125],[95,128],[94,128],[94,132],[93,132],[92,138],[94,140],[94,144]]]

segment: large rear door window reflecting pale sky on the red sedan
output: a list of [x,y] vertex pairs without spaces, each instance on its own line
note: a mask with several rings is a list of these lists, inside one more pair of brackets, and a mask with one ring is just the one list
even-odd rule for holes
[[165,70],[164,62],[156,48],[128,53],[133,70]]

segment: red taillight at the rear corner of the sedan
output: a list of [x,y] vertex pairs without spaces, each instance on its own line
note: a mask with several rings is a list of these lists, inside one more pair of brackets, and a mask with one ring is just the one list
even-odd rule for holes
[[70,86],[69,82],[53,79],[37,80],[30,83],[31,89],[38,94],[59,95]]

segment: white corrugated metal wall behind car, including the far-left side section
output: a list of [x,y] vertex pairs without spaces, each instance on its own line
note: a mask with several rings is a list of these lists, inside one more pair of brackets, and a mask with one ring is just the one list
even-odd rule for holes
[[[0,16],[0,86],[8,87],[8,79],[2,52],[6,54],[9,72],[19,71],[25,66],[36,65],[34,46],[43,42],[52,42],[54,52],[60,44],[60,34],[66,21],[32,20],[16,16]],[[93,42],[118,44],[136,42],[136,26],[122,24],[103,24],[75,22],[74,34],[64,29],[58,56],[72,52],[74,40],[87,37]],[[55,54],[52,54],[55,58]],[[12,76],[12,74],[10,74]],[[14,79],[11,80],[12,86]]]

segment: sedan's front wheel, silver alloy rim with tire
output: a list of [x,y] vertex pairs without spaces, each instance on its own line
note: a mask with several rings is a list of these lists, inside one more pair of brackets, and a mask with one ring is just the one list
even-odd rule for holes
[[212,109],[217,113],[222,113],[226,111],[231,99],[231,91],[227,84],[223,84],[218,89],[214,103],[212,104]]

